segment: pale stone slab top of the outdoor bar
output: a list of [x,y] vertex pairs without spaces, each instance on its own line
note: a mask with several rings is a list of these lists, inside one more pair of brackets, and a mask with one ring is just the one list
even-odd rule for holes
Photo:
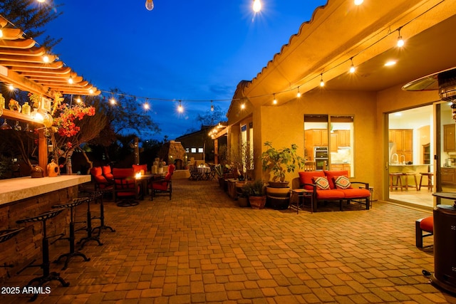
[[18,177],[0,180],[0,205],[90,182],[90,175]]

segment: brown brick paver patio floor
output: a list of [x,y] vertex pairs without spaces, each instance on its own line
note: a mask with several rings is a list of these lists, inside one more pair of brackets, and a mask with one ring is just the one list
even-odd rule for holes
[[[434,269],[432,246],[415,247],[415,220],[430,212],[384,202],[337,209],[240,208],[217,182],[186,179],[173,182],[171,201],[105,200],[105,224],[116,231],[103,231],[103,246],[86,244],[90,261],[73,258],[65,271],[52,264],[70,286],[53,281],[36,303],[456,303],[422,274]],[[39,273],[28,268],[5,286]],[[0,303],[29,298],[0,295]]]

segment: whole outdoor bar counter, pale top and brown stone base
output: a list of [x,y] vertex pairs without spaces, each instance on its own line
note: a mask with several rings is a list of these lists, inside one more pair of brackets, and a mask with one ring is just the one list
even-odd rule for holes
[[[7,276],[28,265],[34,258],[41,261],[42,224],[17,224],[16,221],[43,214],[56,204],[78,197],[78,185],[90,182],[90,175],[59,175],[57,177],[19,177],[0,180],[0,230],[24,228],[14,238],[0,243],[0,283]],[[48,220],[48,236],[66,234],[69,212]],[[59,244],[60,243],[60,244]],[[65,251],[68,241],[51,246]]]

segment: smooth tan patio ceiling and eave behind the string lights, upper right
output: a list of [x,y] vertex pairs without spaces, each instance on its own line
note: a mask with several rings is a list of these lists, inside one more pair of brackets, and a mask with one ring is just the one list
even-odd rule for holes
[[[405,39],[403,48],[395,46],[398,28]],[[298,87],[300,93],[306,93],[378,92],[402,86],[456,66],[455,28],[455,1],[364,1],[353,6],[353,1],[328,0],[240,96],[256,105],[269,105],[275,93],[280,105],[296,98]],[[348,72],[350,58],[356,66],[353,74]],[[396,64],[385,66],[390,60]]]

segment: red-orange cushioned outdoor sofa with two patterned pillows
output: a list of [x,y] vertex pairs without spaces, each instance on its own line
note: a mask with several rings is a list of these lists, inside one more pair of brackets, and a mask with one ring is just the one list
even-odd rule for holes
[[[357,200],[366,204],[369,209],[371,192],[369,184],[366,182],[351,182],[348,179],[348,172],[342,171],[306,171],[299,172],[299,184],[301,188],[312,191],[314,199],[314,211],[320,201],[339,201],[342,211],[342,202],[350,203]],[[353,184],[363,186],[352,187]]]

